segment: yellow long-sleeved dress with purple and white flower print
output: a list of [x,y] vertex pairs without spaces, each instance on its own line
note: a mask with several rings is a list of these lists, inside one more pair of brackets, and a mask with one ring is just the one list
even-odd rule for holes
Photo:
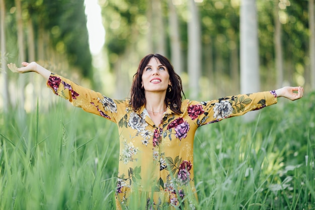
[[132,209],[194,209],[193,142],[197,128],[277,102],[274,91],[202,102],[185,99],[183,114],[168,108],[160,125],[154,125],[144,106],[135,112],[129,99],[111,99],[53,73],[47,86],[73,106],[118,126],[117,209],[131,205]]

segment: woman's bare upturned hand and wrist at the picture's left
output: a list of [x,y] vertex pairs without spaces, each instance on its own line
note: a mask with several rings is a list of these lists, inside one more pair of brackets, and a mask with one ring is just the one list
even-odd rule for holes
[[45,69],[41,65],[37,64],[36,62],[22,62],[24,67],[18,68],[15,63],[8,64],[8,67],[11,71],[15,73],[27,73],[27,72],[36,72],[42,75],[45,79],[49,79],[51,71]]

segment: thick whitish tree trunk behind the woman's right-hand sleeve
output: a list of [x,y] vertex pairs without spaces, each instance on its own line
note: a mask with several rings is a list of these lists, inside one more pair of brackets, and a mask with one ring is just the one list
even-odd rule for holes
[[[241,92],[251,93],[260,90],[258,23],[256,0],[243,0],[241,4]],[[257,112],[246,115],[252,121]]]

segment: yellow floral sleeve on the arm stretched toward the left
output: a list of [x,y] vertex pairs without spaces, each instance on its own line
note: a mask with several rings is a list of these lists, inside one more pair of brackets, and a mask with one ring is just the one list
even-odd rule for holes
[[70,101],[74,107],[82,108],[86,112],[102,116],[113,122],[116,122],[117,119],[117,109],[125,109],[121,108],[124,104],[123,101],[113,100],[54,73],[50,74],[47,86],[56,95]]

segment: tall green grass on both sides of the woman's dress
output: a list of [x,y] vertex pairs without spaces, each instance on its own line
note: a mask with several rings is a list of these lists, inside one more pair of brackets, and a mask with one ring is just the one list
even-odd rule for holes
[[[0,209],[115,208],[116,126],[60,101],[2,114]],[[198,207],[315,209],[315,93],[243,120],[198,130]]]

